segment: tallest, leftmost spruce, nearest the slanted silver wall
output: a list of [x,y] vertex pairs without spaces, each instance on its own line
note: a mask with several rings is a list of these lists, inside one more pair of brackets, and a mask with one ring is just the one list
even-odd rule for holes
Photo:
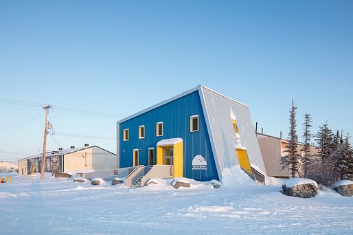
[[300,155],[297,153],[297,131],[295,130],[297,124],[295,120],[295,115],[297,114],[295,110],[297,107],[294,106],[294,101],[292,100],[292,108],[289,112],[289,122],[291,127],[288,133],[288,140],[286,144],[286,153],[285,156],[280,158],[280,164],[282,165],[282,169],[289,167],[289,172],[292,178],[295,177],[295,174],[298,172],[298,159]]

